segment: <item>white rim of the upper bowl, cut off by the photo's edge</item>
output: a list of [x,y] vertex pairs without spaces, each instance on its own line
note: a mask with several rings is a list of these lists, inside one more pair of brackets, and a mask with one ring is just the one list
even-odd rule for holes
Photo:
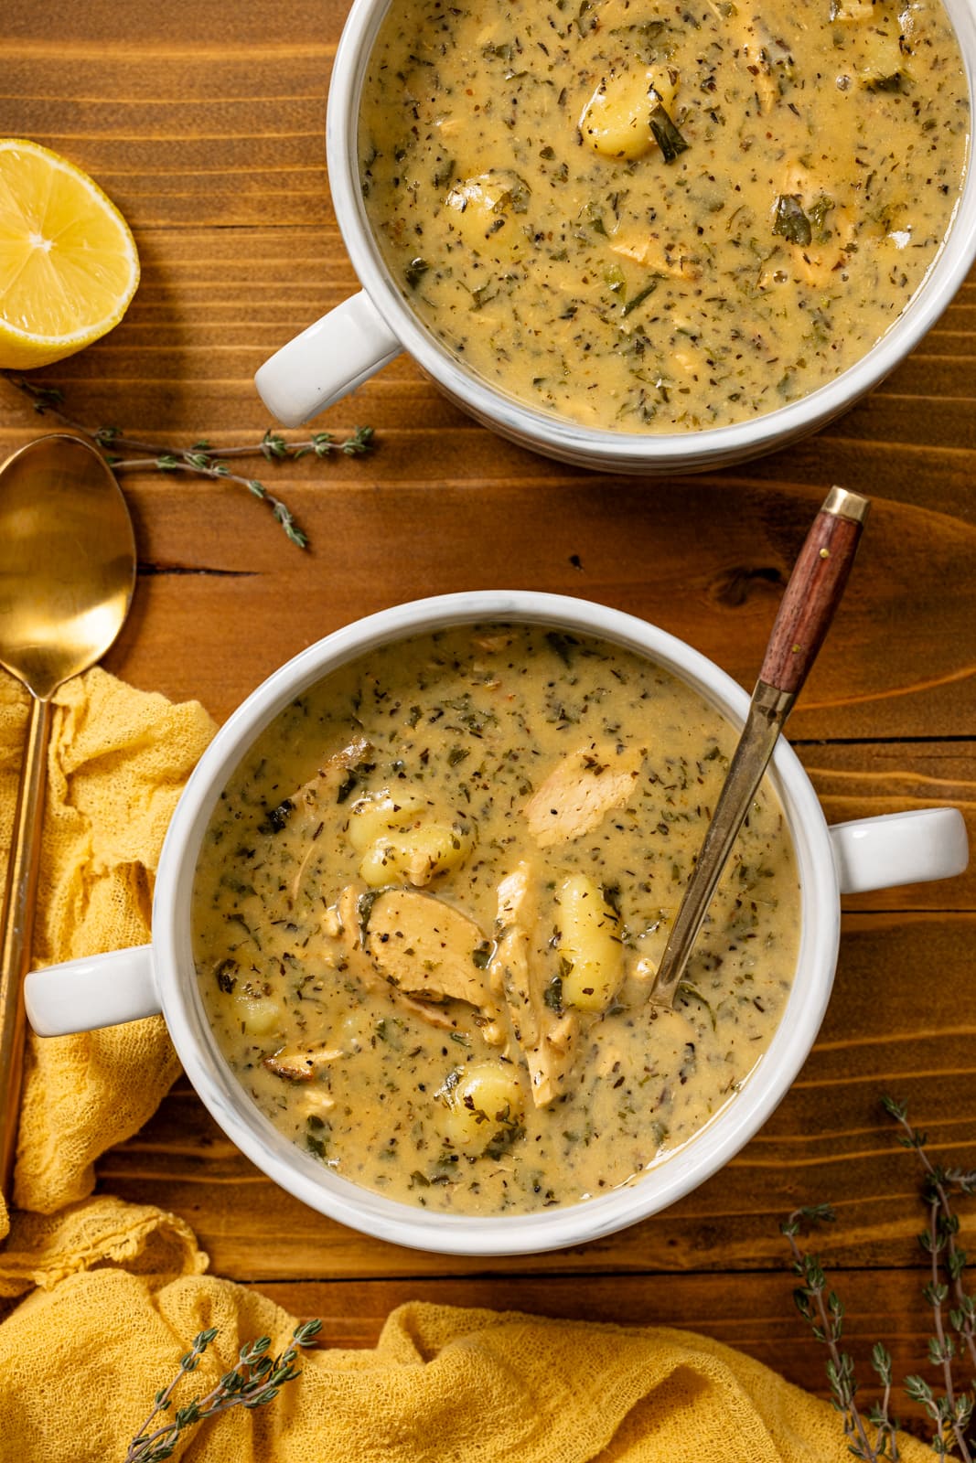
[[326,159],[335,217],[366,294],[402,347],[440,386],[478,420],[503,435],[537,445],[555,456],[594,465],[654,471],[704,470],[771,452],[840,415],[898,366],[939,319],[976,260],[976,168],[972,159],[976,117],[976,12],[972,0],[944,0],[958,41],[970,101],[966,177],[947,237],[919,290],[885,335],[860,360],[809,395],[762,415],[689,433],[628,433],[587,427],[538,411],[492,388],[461,366],[418,322],[394,282],[372,238],[359,180],[357,121],[363,73],[376,32],[394,0],[353,0],[335,54],[326,111]]

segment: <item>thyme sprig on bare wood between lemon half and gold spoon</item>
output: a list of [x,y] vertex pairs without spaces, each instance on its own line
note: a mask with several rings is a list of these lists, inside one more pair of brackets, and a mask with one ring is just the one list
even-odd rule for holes
[[[285,462],[310,455],[322,459],[335,452],[342,452],[345,456],[361,456],[373,446],[373,427],[356,427],[353,435],[344,442],[337,442],[331,432],[313,432],[301,442],[287,442],[279,432],[269,429],[260,442],[241,448],[219,448],[211,442],[195,442],[189,448],[158,446],[152,442],[140,442],[136,437],[130,437],[120,427],[85,427],[61,410],[64,394],[59,386],[45,386],[23,376],[4,375],[18,391],[31,398],[34,410],[40,415],[45,415],[50,411],[63,426],[94,442],[114,473],[190,473],[196,477],[224,478],[228,483],[239,483],[268,505],[277,522],[281,524],[291,543],[299,549],[307,549],[309,535],[299,527],[288,505],[269,492],[259,478],[231,473],[225,459],[260,455],[268,462]],[[136,455],[126,456],[124,454]]]

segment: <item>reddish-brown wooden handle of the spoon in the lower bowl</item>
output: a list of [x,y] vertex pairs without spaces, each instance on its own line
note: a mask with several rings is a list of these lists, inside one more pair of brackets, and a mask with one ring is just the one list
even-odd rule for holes
[[817,658],[855,562],[868,499],[831,487],[814,519],[776,617],[759,680],[796,695]]

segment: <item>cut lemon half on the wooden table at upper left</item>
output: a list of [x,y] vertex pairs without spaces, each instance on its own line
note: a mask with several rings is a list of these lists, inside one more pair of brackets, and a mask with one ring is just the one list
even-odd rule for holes
[[0,367],[91,345],[138,284],[135,240],[98,184],[37,142],[0,139]]

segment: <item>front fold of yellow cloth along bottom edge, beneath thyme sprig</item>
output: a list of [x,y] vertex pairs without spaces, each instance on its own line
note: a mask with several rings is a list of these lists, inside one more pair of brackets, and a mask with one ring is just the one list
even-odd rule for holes
[[[0,1327],[0,1447],[10,1459],[121,1460],[187,1339],[219,1328],[177,1406],[255,1336],[294,1318],[208,1276],[154,1287],[121,1270],[35,1292]],[[256,1412],[214,1418],[192,1463],[849,1463],[837,1413],[702,1336],[410,1304],[375,1350],[306,1353]],[[7,1451],[9,1450],[9,1451]],[[903,1440],[904,1463],[932,1457]]]

